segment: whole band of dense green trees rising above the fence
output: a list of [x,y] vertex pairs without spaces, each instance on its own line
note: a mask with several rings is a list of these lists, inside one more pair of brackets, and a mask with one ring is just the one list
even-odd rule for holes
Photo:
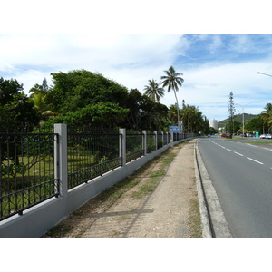
[[16,80],[0,78],[0,121],[168,131],[169,125],[177,125],[180,115],[184,132],[209,133],[209,121],[197,107],[183,102],[182,109],[177,111],[176,105],[169,109],[160,103],[164,89],[154,80],[149,81],[142,94],[86,70],[51,75],[52,86],[44,79],[29,90],[29,96]]

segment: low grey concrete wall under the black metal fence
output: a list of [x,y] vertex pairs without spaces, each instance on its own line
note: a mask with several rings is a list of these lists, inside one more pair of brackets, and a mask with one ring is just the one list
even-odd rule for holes
[[[181,140],[181,141],[186,141]],[[180,143],[176,141],[174,144]],[[53,228],[61,220],[66,219],[73,210],[78,209],[84,203],[100,194],[115,183],[131,175],[149,160],[166,151],[172,144],[166,145],[160,150],[153,151],[140,159],[133,160],[125,166],[104,174],[102,177],[91,180],[68,191],[64,197],[49,199],[43,203],[26,209],[23,215],[15,215],[0,222],[1,238],[37,238]]]

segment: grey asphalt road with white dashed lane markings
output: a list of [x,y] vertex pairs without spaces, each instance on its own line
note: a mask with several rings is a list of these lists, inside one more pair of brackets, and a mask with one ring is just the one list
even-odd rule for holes
[[[199,140],[199,152],[233,237],[272,237],[272,146]],[[272,141],[270,141],[272,143]]]

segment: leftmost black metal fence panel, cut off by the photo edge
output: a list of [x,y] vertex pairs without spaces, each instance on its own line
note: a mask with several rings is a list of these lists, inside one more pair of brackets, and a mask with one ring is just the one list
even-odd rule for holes
[[0,220],[59,194],[51,131],[0,129]]

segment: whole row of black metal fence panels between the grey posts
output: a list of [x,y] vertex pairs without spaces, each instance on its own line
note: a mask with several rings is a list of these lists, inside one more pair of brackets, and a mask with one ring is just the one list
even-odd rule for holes
[[[125,139],[124,139],[125,135]],[[192,137],[173,134],[173,141]],[[57,158],[59,136],[53,128],[0,126],[0,220],[60,195]],[[125,141],[125,153],[122,142]],[[67,189],[136,160],[170,143],[170,133],[97,131],[91,128],[67,132]],[[122,155],[123,154],[123,155]],[[125,157],[125,159],[124,159]]]

